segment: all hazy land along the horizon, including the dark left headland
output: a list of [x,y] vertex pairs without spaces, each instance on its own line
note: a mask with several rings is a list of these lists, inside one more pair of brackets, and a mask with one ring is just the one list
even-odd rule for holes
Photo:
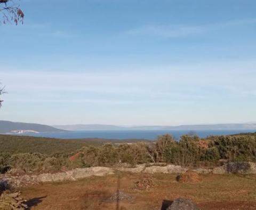
[[117,126],[102,124],[42,125],[0,120],[0,133],[23,134],[63,131],[172,131],[172,130],[256,130],[256,123],[179,125],[179,126]]

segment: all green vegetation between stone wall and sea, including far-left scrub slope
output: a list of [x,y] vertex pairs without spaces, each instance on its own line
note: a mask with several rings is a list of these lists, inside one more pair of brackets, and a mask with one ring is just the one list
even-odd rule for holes
[[207,139],[183,135],[179,141],[166,134],[153,142],[132,143],[5,135],[1,136],[0,142],[2,172],[11,168],[30,173],[144,163],[212,167],[223,161],[256,161],[256,136],[251,134],[210,136]]

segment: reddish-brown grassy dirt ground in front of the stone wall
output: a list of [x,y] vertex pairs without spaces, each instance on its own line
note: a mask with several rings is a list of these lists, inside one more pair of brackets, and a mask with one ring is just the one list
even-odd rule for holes
[[[136,189],[135,183],[143,176],[154,180],[153,188]],[[193,200],[202,209],[256,209],[256,175],[202,175],[199,183],[178,183],[175,177],[120,173],[21,191],[31,209],[154,210],[165,209],[179,197]],[[114,197],[117,189],[122,192],[119,199]]]

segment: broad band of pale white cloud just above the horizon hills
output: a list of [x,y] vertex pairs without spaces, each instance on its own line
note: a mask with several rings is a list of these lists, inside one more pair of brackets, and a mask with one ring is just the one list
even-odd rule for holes
[[255,67],[255,61],[81,72],[0,66],[8,91],[1,117],[49,124],[251,121]]

